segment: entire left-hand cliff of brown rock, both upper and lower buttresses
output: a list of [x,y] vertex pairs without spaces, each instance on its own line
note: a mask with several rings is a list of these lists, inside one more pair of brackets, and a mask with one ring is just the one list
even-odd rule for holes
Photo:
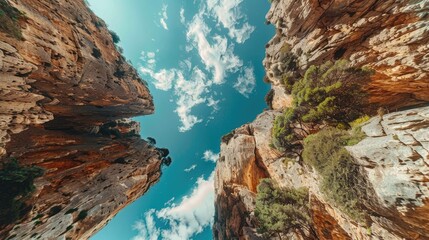
[[84,1],[9,4],[22,38],[0,32],[0,157],[45,174],[0,238],[86,239],[160,177],[159,152],[123,119],[153,113],[152,97]]

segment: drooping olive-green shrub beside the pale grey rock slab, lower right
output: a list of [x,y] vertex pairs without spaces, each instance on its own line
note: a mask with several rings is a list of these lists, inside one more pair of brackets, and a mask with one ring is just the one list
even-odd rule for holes
[[[355,132],[358,132],[357,130]],[[359,166],[344,148],[361,135],[325,128],[304,140],[304,162],[322,176],[321,190],[326,197],[356,221],[363,221],[361,201],[365,199],[365,180]]]

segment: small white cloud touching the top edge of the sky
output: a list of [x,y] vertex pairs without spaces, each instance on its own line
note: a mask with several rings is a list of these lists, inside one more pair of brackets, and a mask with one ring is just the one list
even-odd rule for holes
[[[246,15],[241,12],[239,5],[243,0],[208,0],[207,9],[217,19],[218,24],[228,29],[228,35],[237,43],[244,43],[255,27],[247,21]],[[244,22],[240,26],[240,22]]]

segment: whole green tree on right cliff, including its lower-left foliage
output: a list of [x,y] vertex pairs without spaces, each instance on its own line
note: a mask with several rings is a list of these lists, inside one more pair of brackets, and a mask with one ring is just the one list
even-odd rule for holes
[[283,151],[300,153],[302,140],[321,126],[342,125],[365,112],[365,84],[371,72],[352,68],[346,61],[311,66],[293,83],[292,107],[275,119],[273,145]]

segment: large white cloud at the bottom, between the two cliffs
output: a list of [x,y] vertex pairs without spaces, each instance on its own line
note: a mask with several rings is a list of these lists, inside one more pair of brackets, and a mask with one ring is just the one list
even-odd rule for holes
[[[140,239],[191,239],[201,233],[204,228],[211,227],[214,217],[214,174],[208,179],[198,178],[192,193],[182,198],[180,204],[171,204],[159,211],[150,210],[146,222],[138,221],[135,228],[139,234],[133,240]],[[154,216],[158,220],[166,221],[168,228],[160,230],[154,223]]]

